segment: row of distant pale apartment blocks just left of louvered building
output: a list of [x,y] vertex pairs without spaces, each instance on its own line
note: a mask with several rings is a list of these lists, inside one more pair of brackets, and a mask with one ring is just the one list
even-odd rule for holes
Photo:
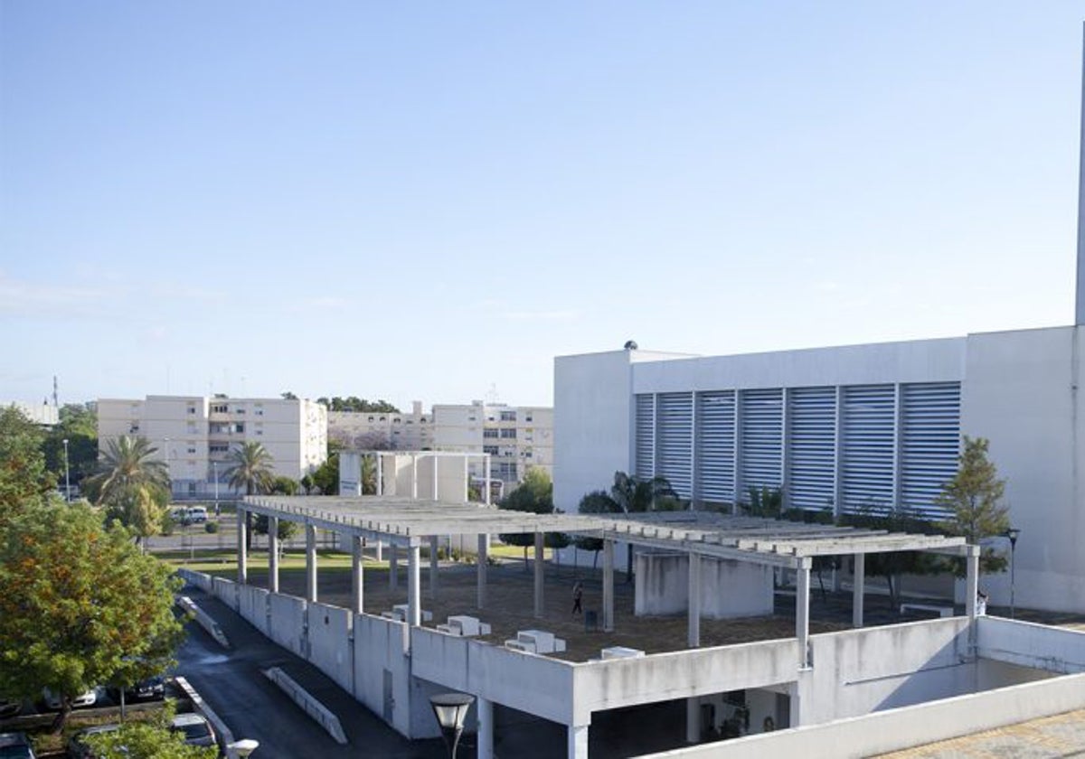
[[[519,483],[531,466],[553,474],[553,409],[534,406],[436,403],[426,413],[330,412],[328,436],[352,448],[489,453],[490,476]],[[483,477],[481,463],[471,475]]]

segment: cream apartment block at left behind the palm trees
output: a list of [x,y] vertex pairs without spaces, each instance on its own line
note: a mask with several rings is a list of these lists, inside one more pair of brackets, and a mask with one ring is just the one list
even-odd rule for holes
[[263,443],[272,471],[294,479],[328,458],[328,416],[310,400],[148,396],[98,401],[99,449],[122,435],[142,435],[169,466],[174,496],[208,497],[229,492],[225,472],[231,448]]

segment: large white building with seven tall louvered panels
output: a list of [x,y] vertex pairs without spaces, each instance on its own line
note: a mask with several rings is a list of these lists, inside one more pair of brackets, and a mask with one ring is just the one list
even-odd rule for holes
[[[812,350],[560,357],[554,503],[575,511],[615,471],[663,475],[692,507],[750,488],[835,513],[906,509],[937,520],[960,436],[991,441],[1021,530],[994,603],[1085,612],[1085,381],[1078,326]],[[992,548],[1008,551],[995,538]]]

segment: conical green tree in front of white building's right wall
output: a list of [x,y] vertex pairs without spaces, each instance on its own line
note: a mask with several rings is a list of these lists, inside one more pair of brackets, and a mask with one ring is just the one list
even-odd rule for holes
[[[985,538],[1006,535],[1010,526],[1009,505],[1003,503],[1006,480],[998,478],[998,471],[987,458],[990,445],[986,438],[962,437],[957,474],[942,487],[934,501],[950,514],[942,528],[962,536],[973,545],[980,545]],[[1006,566],[1005,553],[983,549],[982,571],[1005,571]]]

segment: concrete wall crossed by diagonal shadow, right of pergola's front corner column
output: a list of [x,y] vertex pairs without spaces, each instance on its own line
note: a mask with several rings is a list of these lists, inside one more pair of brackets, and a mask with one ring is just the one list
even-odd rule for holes
[[[800,724],[969,693],[968,619],[950,617],[810,636],[813,671],[800,678]],[[796,720],[797,721],[797,720]]]

